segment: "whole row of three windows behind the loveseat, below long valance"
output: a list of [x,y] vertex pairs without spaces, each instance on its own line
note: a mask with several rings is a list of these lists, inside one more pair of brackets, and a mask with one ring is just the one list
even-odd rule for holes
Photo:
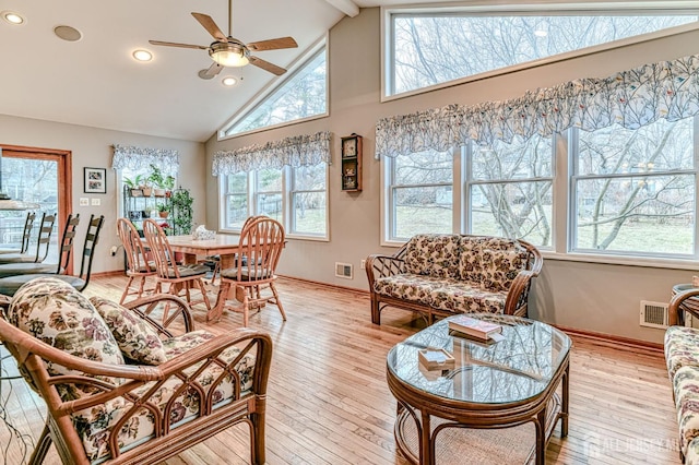
[[[553,139],[387,158],[386,239],[464,233],[606,261],[699,258],[696,124],[686,118],[635,130],[570,129]],[[460,167],[463,182],[454,176]]]

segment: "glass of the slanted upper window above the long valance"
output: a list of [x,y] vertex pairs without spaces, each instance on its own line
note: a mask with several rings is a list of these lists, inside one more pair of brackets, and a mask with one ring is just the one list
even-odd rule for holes
[[[581,3],[580,3],[581,4]],[[628,3],[627,3],[628,7]],[[386,95],[440,85],[697,21],[696,12],[389,11]],[[410,11],[410,10],[407,10]]]

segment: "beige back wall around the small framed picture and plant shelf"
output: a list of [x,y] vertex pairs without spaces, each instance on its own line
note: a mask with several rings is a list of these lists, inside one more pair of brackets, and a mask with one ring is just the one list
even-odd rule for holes
[[[135,145],[151,148],[173,148],[180,155],[180,183],[190,189],[194,198],[194,222],[204,222],[205,191],[203,186],[205,164],[204,145],[200,142],[154,138],[143,134],[87,128],[27,118],[0,115],[0,143],[38,148],[58,148],[72,152],[73,208],[83,218],[78,234],[74,253],[82,253],[82,241],[91,214],[105,215],[105,225],[95,248],[93,273],[123,270],[123,254],[111,257],[111,246],[120,245],[116,220],[121,191],[116,186],[116,171],[111,169],[114,144]],[[83,168],[107,168],[107,193],[83,192]],[[211,170],[210,170],[211,171]],[[100,199],[100,206],[79,206],[81,196]],[[76,262],[78,263],[78,262]],[[75,270],[79,272],[79,269]]]

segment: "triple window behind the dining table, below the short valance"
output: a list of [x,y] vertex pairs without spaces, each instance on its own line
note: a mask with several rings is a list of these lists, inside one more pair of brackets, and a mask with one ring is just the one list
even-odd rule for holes
[[328,238],[328,165],[221,176],[221,229],[239,231],[250,215],[270,216],[296,237]]

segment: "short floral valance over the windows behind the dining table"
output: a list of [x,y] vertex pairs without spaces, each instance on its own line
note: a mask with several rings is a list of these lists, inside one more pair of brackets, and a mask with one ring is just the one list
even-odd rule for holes
[[264,145],[249,145],[235,151],[214,153],[212,172],[214,176],[233,175],[284,166],[308,166],[319,163],[330,164],[330,132],[311,135],[295,135]]

